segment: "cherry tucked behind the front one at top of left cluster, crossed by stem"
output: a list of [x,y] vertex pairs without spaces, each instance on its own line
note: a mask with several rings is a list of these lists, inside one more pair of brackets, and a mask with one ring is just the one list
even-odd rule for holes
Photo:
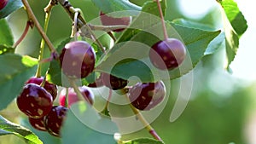
[[[44,81],[43,77],[40,77],[40,78],[32,77],[32,78],[29,78],[26,81],[26,84],[38,84],[38,85],[40,85],[43,81]],[[52,95],[53,101],[54,101],[56,96],[57,96],[57,90],[58,90],[57,86],[55,84],[49,83],[48,81],[45,81],[44,89],[47,90],[50,95]]]

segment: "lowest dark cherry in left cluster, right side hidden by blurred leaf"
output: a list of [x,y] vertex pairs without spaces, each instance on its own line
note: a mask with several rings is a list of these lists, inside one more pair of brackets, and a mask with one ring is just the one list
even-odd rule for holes
[[44,125],[50,135],[60,136],[61,125],[66,118],[67,107],[54,106],[44,118]]

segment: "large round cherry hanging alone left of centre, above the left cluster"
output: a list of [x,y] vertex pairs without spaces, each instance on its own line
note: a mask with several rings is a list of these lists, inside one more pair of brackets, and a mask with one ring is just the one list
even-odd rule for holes
[[94,69],[95,59],[94,49],[84,41],[67,43],[60,55],[62,71],[69,78],[88,76]]

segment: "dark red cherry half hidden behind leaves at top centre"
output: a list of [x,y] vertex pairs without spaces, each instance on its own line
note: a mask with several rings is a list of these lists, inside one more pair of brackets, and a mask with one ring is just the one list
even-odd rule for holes
[[[113,18],[108,16],[107,14],[100,12],[100,18],[103,26],[129,26],[131,23],[131,17],[122,17],[122,18]],[[113,32],[122,32],[124,28],[113,30]]]

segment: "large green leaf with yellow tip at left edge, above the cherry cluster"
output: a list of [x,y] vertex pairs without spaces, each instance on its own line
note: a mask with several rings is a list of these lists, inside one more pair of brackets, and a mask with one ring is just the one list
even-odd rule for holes
[[26,80],[34,75],[37,60],[29,56],[0,55],[0,110],[20,94]]

